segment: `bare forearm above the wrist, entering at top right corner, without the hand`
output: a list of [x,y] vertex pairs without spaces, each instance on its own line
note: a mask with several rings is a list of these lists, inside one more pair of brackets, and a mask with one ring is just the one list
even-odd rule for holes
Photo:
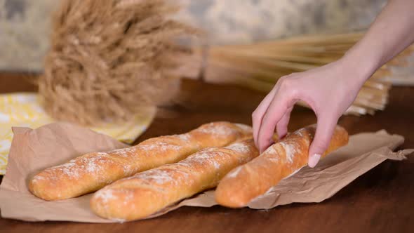
[[413,9],[414,0],[389,1],[363,39],[344,56],[361,81],[413,43]]

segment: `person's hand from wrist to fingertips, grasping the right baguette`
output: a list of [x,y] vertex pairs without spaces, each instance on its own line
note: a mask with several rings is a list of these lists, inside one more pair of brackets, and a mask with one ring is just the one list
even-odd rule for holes
[[309,148],[308,165],[316,166],[328,148],[339,117],[355,100],[366,80],[353,62],[344,58],[323,67],[283,76],[253,112],[255,143],[263,152],[272,145],[276,128],[279,138],[287,133],[293,105],[298,100],[307,103],[316,114],[316,135]]

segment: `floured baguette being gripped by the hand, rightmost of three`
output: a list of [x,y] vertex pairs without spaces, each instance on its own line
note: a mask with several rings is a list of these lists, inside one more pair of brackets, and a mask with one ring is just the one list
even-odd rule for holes
[[[229,172],[215,190],[215,200],[222,206],[232,208],[246,206],[280,180],[306,166],[315,131],[315,125],[301,128],[270,146],[259,157]],[[322,157],[347,142],[347,131],[336,126],[330,145]]]

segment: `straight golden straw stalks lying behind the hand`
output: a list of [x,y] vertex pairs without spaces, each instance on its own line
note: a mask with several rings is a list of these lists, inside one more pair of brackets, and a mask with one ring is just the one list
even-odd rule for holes
[[[281,77],[326,65],[341,58],[363,36],[362,33],[320,34],[255,44],[211,46],[206,81],[236,84],[269,92]],[[346,114],[374,114],[387,105],[391,83],[390,65],[406,65],[413,46],[391,60],[363,84]],[[196,53],[201,53],[201,50]],[[307,107],[304,102],[299,105]]]

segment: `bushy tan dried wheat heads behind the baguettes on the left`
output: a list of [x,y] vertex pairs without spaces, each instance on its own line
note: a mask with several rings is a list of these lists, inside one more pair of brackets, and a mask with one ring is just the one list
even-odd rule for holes
[[39,94],[55,119],[125,121],[179,91],[175,39],[196,33],[165,0],[64,0],[53,18]]

